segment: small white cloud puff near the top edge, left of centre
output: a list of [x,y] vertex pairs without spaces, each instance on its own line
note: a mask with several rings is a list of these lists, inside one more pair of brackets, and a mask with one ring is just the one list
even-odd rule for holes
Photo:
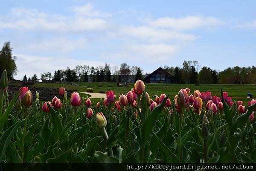
[[78,15],[85,15],[88,17],[111,17],[111,14],[109,13],[97,11],[90,3],[87,3],[84,6],[73,6],[69,9]]

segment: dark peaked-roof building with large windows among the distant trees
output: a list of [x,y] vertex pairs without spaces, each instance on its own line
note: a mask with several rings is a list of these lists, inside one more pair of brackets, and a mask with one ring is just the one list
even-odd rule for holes
[[159,67],[157,70],[147,75],[144,80],[146,83],[173,83],[174,79],[169,72]]

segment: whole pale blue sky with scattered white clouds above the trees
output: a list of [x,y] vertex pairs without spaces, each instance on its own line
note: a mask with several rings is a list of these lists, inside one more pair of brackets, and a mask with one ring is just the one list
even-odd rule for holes
[[77,65],[152,72],[196,60],[217,71],[256,59],[254,0],[1,0],[0,47],[22,79]]

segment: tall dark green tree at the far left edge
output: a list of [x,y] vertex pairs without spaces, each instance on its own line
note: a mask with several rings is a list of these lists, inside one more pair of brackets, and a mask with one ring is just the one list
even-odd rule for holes
[[9,79],[12,79],[13,75],[17,72],[15,60],[16,56],[12,56],[10,42],[5,42],[2,50],[0,51],[0,73],[2,74],[3,70],[6,70]]

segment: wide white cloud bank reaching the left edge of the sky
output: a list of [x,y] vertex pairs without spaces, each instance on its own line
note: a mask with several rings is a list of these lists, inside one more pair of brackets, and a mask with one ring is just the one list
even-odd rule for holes
[[[77,7],[78,8],[78,7]],[[93,9],[91,9],[93,10]],[[96,11],[96,13],[99,13]],[[13,8],[8,17],[0,18],[0,29],[84,32],[108,29],[106,20],[76,13],[71,16],[39,12],[37,9]]]

